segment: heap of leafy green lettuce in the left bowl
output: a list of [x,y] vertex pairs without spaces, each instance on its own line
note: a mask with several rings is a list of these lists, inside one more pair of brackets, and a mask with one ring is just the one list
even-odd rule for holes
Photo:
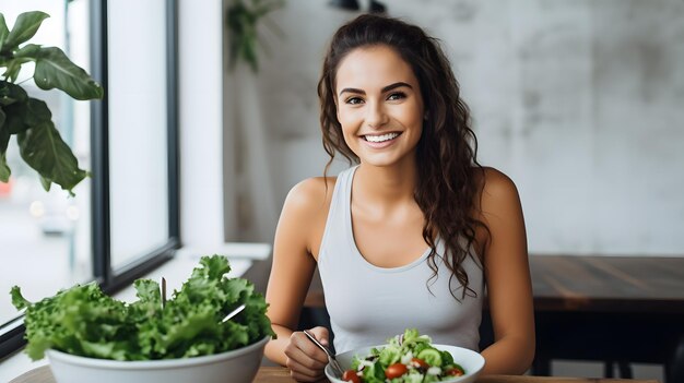
[[[49,348],[101,359],[174,359],[219,354],[274,336],[263,296],[247,279],[226,277],[229,271],[225,256],[202,256],[164,308],[160,286],[151,279],[133,283],[138,300],[132,303],[105,295],[95,283],[35,303],[14,286],[12,303],[26,309],[25,352],[33,360]],[[222,322],[243,303],[245,310]]]

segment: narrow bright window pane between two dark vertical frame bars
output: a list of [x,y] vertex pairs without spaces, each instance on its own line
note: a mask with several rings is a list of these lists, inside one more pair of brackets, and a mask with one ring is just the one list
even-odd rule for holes
[[165,3],[117,0],[107,9],[108,56],[115,63],[107,82],[109,153],[116,158],[109,161],[115,268],[168,238],[166,14],[160,12]]

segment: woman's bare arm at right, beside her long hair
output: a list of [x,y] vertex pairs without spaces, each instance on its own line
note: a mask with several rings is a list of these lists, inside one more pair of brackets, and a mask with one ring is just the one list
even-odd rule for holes
[[484,373],[522,374],[534,358],[534,312],[527,235],[518,190],[486,169],[482,214],[490,228],[484,264],[495,342],[482,351]]

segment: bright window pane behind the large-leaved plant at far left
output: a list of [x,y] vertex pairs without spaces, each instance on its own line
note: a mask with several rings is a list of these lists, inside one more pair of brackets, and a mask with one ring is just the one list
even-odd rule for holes
[[[8,27],[26,11],[50,15],[30,43],[56,46],[90,72],[89,8],[85,0],[3,1]],[[31,75],[20,79],[32,97],[45,100],[62,139],[71,146],[81,168],[91,169],[90,104],[73,101],[60,91],[38,89]],[[8,148],[12,169],[9,183],[0,182],[0,324],[17,315],[10,288],[17,285],[30,300],[51,296],[60,288],[92,278],[90,179],[75,189],[75,198],[52,184],[46,192],[37,172],[21,159],[16,140]]]

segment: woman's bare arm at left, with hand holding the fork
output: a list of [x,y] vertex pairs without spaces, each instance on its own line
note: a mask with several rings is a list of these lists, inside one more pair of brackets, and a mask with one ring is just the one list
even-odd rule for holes
[[[311,255],[311,243],[322,230],[327,216],[325,183],[320,179],[308,179],[295,185],[287,194],[275,231],[273,264],[269,277],[266,300],[268,316],[278,338],[266,346],[266,356],[292,371],[298,381],[315,381],[322,378],[327,363],[326,355],[310,340],[295,333],[299,312],[309,288],[316,260]],[[321,216],[322,214],[322,216]],[[327,344],[325,328],[314,332]]]

